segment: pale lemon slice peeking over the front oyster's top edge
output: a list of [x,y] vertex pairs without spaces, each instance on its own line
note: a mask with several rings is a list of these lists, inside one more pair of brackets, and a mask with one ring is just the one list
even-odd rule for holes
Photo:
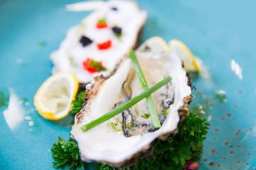
[[139,51],[151,50],[153,52],[170,51],[170,47],[166,44],[165,40],[161,37],[152,37],[146,40],[139,48]]

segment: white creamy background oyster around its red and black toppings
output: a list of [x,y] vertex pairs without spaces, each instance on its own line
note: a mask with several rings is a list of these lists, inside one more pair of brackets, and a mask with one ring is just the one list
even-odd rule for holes
[[[117,8],[117,11],[112,8]],[[98,74],[108,76],[115,65],[128,54],[136,41],[139,30],[146,21],[147,13],[141,10],[134,1],[107,1],[97,11],[90,13],[82,22],[68,30],[67,37],[60,44],[60,49],[50,55],[53,74],[56,72],[73,72],[80,83],[92,81]],[[106,18],[108,28],[96,28],[97,22]],[[121,41],[114,36],[112,27],[122,28]],[[90,45],[82,47],[80,38],[85,35],[92,40]],[[97,44],[112,40],[112,47],[107,50],[98,50]],[[83,69],[82,62],[89,57],[97,62],[102,61],[104,72],[91,74]]]

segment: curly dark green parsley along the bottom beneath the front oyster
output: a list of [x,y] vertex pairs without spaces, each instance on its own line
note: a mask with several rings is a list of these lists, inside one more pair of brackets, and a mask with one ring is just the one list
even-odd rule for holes
[[[197,161],[201,157],[203,140],[206,140],[208,123],[197,115],[190,113],[182,123],[178,124],[178,133],[169,136],[165,141],[154,140],[154,154],[151,157],[139,157],[133,166],[124,167],[125,170],[146,169],[183,169],[185,162]],[[192,132],[193,131],[193,132]],[[68,142],[61,138],[52,148],[55,168],[68,166],[69,169],[79,169],[84,166],[80,160],[78,145],[70,138]],[[107,164],[95,163],[92,165],[97,170],[116,170]]]

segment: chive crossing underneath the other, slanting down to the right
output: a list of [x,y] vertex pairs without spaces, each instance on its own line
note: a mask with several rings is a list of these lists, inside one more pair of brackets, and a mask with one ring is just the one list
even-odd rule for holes
[[[131,50],[129,53],[129,57],[132,59],[132,63],[134,64],[134,69],[137,73],[137,76],[139,77],[139,81],[142,84],[142,89],[143,91],[146,91],[147,89],[149,89],[149,86],[146,83],[146,79],[144,77],[144,74],[142,72],[142,68],[139,66],[139,62],[137,60],[137,57],[135,55],[134,50]],[[161,127],[160,121],[159,121],[159,117],[156,113],[156,107],[154,105],[154,101],[151,95],[146,97],[146,102],[149,106],[149,112],[151,115],[151,119],[154,125],[154,128],[158,129]]]

